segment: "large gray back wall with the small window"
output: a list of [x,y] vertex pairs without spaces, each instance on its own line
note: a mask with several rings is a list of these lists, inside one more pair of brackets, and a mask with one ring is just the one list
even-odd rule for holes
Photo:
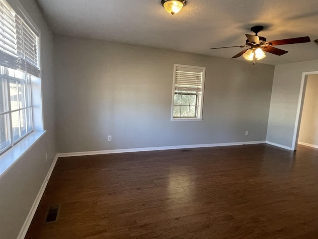
[[[54,47],[59,152],[266,139],[274,66],[58,35]],[[170,121],[174,63],[206,67],[202,121]]]

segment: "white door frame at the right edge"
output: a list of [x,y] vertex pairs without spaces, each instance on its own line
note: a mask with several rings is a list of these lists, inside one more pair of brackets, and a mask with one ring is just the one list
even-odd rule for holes
[[303,72],[302,82],[301,82],[300,92],[299,92],[297,113],[296,113],[296,121],[295,121],[295,128],[294,128],[292,150],[297,149],[300,121],[302,119],[302,112],[303,112],[303,106],[304,106],[304,98],[305,98],[305,91],[306,91],[308,75],[317,75],[317,74],[318,74],[318,71]]

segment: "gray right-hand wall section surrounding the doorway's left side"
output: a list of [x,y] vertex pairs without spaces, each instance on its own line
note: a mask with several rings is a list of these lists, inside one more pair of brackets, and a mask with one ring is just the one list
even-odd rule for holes
[[318,60],[275,66],[267,140],[292,147],[303,72],[318,71]]

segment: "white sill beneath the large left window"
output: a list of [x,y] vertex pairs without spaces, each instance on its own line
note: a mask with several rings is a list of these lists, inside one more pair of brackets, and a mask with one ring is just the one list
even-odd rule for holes
[[0,176],[19,159],[46,131],[34,131],[0,156]]

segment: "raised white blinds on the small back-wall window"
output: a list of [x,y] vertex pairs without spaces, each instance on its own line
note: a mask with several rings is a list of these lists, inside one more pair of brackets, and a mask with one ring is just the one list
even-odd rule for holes
[[175,91],[202,92],[202,68],[177,66],[175,69]]

